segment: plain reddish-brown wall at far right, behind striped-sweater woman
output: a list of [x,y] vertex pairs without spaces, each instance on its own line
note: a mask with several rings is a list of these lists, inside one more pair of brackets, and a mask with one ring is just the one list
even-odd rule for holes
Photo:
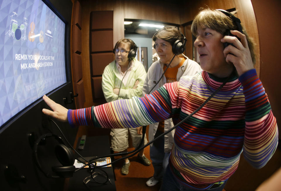
[[[281,127],[281,89],[276,88],[276,83],[281,81],[281,65],[277,64],[281,60],[281,54],[277,53],[280,50],[281,36],[275,35],[281,30],[280,23],[280,7],[281,1],[269,0],[252,0],[253,9],[256,13],[258,24],[258,34],[260,38],[261,48],[261,81],[268,94],[273,114],[276,117],[277,125]],[[275,43],[276,42],[276,43]],[[277,52],[276,52],[277,50]],[[281,132],[279,132],[279,139]]]

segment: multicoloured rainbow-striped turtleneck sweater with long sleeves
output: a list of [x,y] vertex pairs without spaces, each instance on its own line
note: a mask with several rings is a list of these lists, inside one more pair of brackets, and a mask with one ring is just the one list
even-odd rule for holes
[[[203,71],[167,83],[142,98],[116,100],[69,110],[72,126],[131,128],[173,118],[174,124],[196,110],[223,82]],[[169,164],[179,181],[206,188],[227,180],[243,151],[255,168],[274,154],[278,130],[262,83],[252,69],[233,76],[206,105],[176,128]]]

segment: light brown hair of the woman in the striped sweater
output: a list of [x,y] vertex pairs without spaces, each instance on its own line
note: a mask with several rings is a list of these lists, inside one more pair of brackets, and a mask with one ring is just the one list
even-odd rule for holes
[[[232,14],[235,14],[234,12]],[[253,64],[256,62],[256,54],[254,53],[254,42],[251,37],[246,33],[243,25],[242,31],[246,35],[248,47],[251,53],[251,58]],[[202,9],[194,18],[191,25],[191,32],[194,36],[197,35],[199,28],[210,28],[215,30],[222,35],[226,30],[237,30],[237,26],[233,24],[232,19],[229,16],[226,16],[224,13],[218,10],[213,10],[210,8]]]

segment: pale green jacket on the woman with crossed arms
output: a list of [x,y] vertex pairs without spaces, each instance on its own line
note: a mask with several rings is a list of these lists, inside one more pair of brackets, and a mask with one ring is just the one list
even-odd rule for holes
[[[134,63],[131,69],[126,86],[122,82],[121,88],[121,74],[119,73],[115,60],[108,64],[102,74],[102,91],[107,102],[114,101],[118,98],[118,95],[113,93],[114,88],[120,88],[118,99],[130,99],[133,96],[142,96],[143,82],[145,80],[146,71],[142,63],[137,59],[133,59],[131,62]],[[139,84],[136,89],[133,89],[135,82],[139,80]]]

